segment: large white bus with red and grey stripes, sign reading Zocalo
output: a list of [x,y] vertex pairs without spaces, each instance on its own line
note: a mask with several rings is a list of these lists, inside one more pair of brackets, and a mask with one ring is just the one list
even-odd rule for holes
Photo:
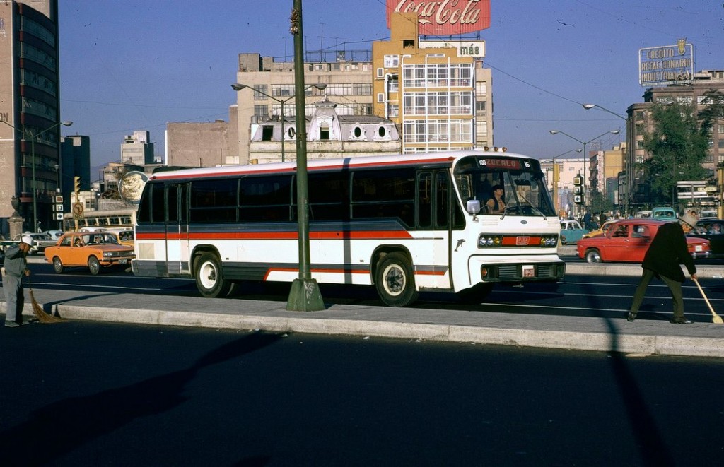
[[[505,210],[489,213],[492,189]],[[494,283],[555,281],[560,224],[539,161],[498,151],[308,163],[311,275],[369,285],[393,307],[420,291],[481,301]],[[203,296],[298,278],[295,163],[155,173],[138,207],[135,275],[195,278]]]

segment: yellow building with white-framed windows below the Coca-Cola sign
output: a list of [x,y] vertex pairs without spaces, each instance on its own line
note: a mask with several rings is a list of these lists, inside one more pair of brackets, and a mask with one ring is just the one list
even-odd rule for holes
[[375,41],[374,114],[395,121],[403,153],[492,145],[491,73],[484,42],[420,41],[418,15],[390,15],[390,40]]

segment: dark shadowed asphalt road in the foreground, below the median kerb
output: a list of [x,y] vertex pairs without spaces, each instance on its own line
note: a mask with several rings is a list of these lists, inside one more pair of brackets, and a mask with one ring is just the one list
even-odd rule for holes
[[0,330],[6,466],[712,466],[720,359],[64,322]]

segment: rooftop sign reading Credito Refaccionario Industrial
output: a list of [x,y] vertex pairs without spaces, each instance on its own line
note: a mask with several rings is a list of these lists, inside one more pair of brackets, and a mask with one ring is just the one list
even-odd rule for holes
[[644,87],[684,85],[694,80],[694,46],[679,39],[675,46],[639,49],[639,83]]

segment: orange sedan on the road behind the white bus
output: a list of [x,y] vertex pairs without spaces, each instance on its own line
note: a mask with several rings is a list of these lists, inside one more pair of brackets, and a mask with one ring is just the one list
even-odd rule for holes
[[79,266],[88,267],[96,275],[101,267],[127,267],[133,257],[133,247],[119,244],[114,235],[106,232],[69,232],[45,251],[46,261],[57,274],[66,267]]

